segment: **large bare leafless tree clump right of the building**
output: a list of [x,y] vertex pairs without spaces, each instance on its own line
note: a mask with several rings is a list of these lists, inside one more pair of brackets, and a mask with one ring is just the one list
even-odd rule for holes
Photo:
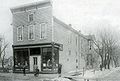
[[[118,57],[116,56],[116,49],[119,48],[116,34],[110,29],[103,29],[99,31],[98,40],[93,40],[95,52],[101,57],[100,68],[110,69],[110,64],[114,61],[115,66],[118,64]],[[118,51],[118,50],[117,50]]]

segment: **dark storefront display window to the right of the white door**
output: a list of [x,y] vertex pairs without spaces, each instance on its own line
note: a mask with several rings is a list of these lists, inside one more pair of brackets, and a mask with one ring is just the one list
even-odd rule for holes
[[52,48],[43,48],[42,50],[42,70],[52,71],[57,70],[59,63],[59,52],[57,48],[54,48],[54,53],[52,54]]

